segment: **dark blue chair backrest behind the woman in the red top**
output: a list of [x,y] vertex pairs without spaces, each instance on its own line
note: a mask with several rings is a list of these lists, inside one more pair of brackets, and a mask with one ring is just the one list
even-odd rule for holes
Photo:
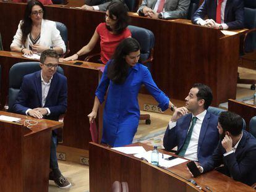
[[150,62],[144,63],[150,57],[153,59],[153,47],[155,45],[155,36],[152,31],[147,28],[136,27],[134,25],[128,26],[130,32],[132,33],[132,38],[137,40],[140,44],[140,62],[150,69]]

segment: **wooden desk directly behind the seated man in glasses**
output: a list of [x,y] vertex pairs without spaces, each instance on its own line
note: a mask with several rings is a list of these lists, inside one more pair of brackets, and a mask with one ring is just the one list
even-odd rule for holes
[[[2,67],[1,105],[7,101],[9,86],[9,69],[17,62],[32,61],[22,57],[20,53],[0,51],[0,64]],[[36,61],[38,62],[38,61]],[[62,145],[72,148],[88,149],[90,124],[87,114],[92,111],[95,90],[98,86],[100,70],[104,66],[90,62],[82,65],[73,65],[74,62],[59,64],[67,77],[67,112],[64,118]]]

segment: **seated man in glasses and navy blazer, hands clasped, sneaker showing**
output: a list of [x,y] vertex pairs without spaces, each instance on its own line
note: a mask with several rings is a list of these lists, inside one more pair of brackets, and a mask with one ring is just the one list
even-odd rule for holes
[[[58,120],[59,115],[67,109],[67,78],[56,73],[58,68],[58,54],[53,50],[41,53],[41,70],[25,75],[20,87],[19,95],[11,109],[23,115],[30,115],[38,119]],[[52,132],[49,180],[60,188],[69,188],[71,184],[61,174],[56,156],[58,137],[56,131]]]

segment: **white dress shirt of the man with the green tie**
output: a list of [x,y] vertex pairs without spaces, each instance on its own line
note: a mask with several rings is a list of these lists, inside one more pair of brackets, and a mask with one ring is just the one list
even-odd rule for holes
[[[193,128],[193,132],[190,138],[189,146],[187,147],[187,151],[184,155],[185,158],[190,159],[192,161],[198,161],[197,158],[197,148],[198,148],[198,140],[200,136],[200,131],[203,123],[203,119],[205,119],[205,114],[207,111],[203,111],[202,113],[198,114],[197,116],[192,115],[193,117],[197,117],[197,121],[195,122],[195,126]],[[189,127],[191,127],[192,119],[190,121]],[[176,126],[176,122],[169,122],[169,129]],[[189,132],[189,130],[187,130]]]

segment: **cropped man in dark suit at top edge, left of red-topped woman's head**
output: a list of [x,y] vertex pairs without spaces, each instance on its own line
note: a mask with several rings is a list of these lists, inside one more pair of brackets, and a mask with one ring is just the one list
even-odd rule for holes
[[124,0],[85,0],[85,4],[82,6],[82,8],[86,10],[106,11],[106,8],[111,1],[121,1],[124,3]]

